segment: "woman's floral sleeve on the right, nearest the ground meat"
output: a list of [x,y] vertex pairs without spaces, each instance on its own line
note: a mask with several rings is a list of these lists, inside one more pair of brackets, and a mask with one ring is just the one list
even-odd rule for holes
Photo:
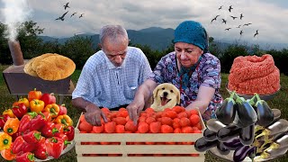
[[210,58],[206,65],[202,68],[202,85],[211,86],[215,89],[220,88],[220,60],[218,58]]

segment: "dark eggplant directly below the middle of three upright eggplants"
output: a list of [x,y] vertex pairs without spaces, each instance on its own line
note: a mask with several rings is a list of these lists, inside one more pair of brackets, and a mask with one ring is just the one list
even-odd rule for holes
[[251,145],[254,141],[254,128],[255,124],[244,127],[241,129],[239,139],[243,145]]

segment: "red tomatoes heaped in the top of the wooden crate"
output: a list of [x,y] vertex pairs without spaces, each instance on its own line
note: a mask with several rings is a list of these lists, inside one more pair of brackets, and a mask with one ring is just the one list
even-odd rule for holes
[[101,126],[93,126],[80,116],[78,129],[86,133],[202,133],[201,118],[197,110],[186,111],[182,106],[166,108],[155,112],[152,108],[140,112],[138,124],[130,120],[128,111],[121,108],[111,112],[108,108],[102,111],[108,122],[102,120]]

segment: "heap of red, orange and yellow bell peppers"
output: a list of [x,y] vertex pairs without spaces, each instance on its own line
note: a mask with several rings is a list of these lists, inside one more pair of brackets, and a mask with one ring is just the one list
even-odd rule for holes
[[16,161],[58,158],[75,134],[65,105],[36,89],[0,115],[0,128],[1,155]]

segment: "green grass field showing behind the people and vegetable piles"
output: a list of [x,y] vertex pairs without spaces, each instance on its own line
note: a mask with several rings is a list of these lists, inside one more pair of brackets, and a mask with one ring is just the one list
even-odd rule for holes
[[[12,103],[16,101],[15,96],[9,94],[9,91],[4,83],[4,78],[2,75],[3,70],[8,67],[8,66],[3,66],[0,65],[0,112],[3,112],[5,108],[10,108],[12,106]],[[72,81],[74,85],[76,85],[77,78],[80,75],[80,71],[76,70],[75,73],[71,76]],[[222,74],[222,82],[221,82],[221,89],[220,93],[222,94],[223,98],[228,97],[228,92],[225,89],[225,85],[228,82],[228,74]],[[28,93],[28,92],[27,92]],[[74,108],[71,105],[71,98],[70,97],[65,97],[64,103],[67,106],[67,112],[68,115],[73,119],[74,121],[74,126],[76,126],[76,121],[78,120],[80,116],[80,111],[78,111],[76,108]],[[281,110],[282,112],[282,118],[288,119],[288,76],[281,76],[281,90],[278,94],[276,94],[275,98],[271,101],[268,101],[268,104],[270,105],[271,108],[276,108]],[[276,159],[274,161],[286,161],[285,159],[288,158],[288,153],[286,154],[285,157],[281,157],[279,159]],[[1,156],[0,156],[0,161],[5,161]],[[58,161],[63,161],[63,162],[74,162],[76,161],[76,152],[75,148],[71,149],[69,152],[67,152],[65,155],[59,157],[58,159],[50,160],[52,162],[58,162]]]

